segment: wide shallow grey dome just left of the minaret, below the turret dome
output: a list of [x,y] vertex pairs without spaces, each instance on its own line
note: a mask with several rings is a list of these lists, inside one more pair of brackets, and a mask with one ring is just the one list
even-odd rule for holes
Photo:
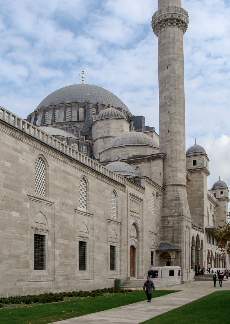
[[130,131],[116,136],[107,148],[126,145],[141,145],[159,148],[159,145],[148,135],[140,132]]

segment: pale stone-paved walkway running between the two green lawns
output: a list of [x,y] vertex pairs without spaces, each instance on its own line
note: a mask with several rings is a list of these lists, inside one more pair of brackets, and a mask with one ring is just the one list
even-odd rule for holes
[[181,291],[154,298],[152,299],[151,303],[147,303],[146,301],[138,302],[135,304],[104,310],[102,312],[54,322],[52,324],[138,324],[147,319],[168,312],[174,308],[188,304],[203,296],[209,295],[214,291],[230,290],[230,279],[223,281],[222,288],[219,287],[219,281],[216,282],[216,288],[213,287],[213,282],[202,281],[162,287],[158,288],[158,290]]

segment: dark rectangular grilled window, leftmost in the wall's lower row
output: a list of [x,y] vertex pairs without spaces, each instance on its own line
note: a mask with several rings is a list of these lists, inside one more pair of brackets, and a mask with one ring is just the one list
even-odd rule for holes
[[45,235],[34,234],[34,270],[45,270]]

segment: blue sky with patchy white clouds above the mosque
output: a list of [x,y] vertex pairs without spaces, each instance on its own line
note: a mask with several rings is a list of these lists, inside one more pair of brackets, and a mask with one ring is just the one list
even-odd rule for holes
[[[182,0],[186,148],[230,188],[230,1]],[[0,105],[26,118],[48,94],[85,83],[117,95],[159,133],[157,0],[0,0]],[[80,74],[80,76],[79,76]]]

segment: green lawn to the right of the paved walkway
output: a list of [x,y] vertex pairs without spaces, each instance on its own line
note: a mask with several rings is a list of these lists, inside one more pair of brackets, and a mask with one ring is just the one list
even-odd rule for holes
[[[230,291],[217,291],[192,303],[175,308],[167,313],[153,317],[148,324],[229,324],[230,323]],[[153,301],[154,307],[154,301]]]

